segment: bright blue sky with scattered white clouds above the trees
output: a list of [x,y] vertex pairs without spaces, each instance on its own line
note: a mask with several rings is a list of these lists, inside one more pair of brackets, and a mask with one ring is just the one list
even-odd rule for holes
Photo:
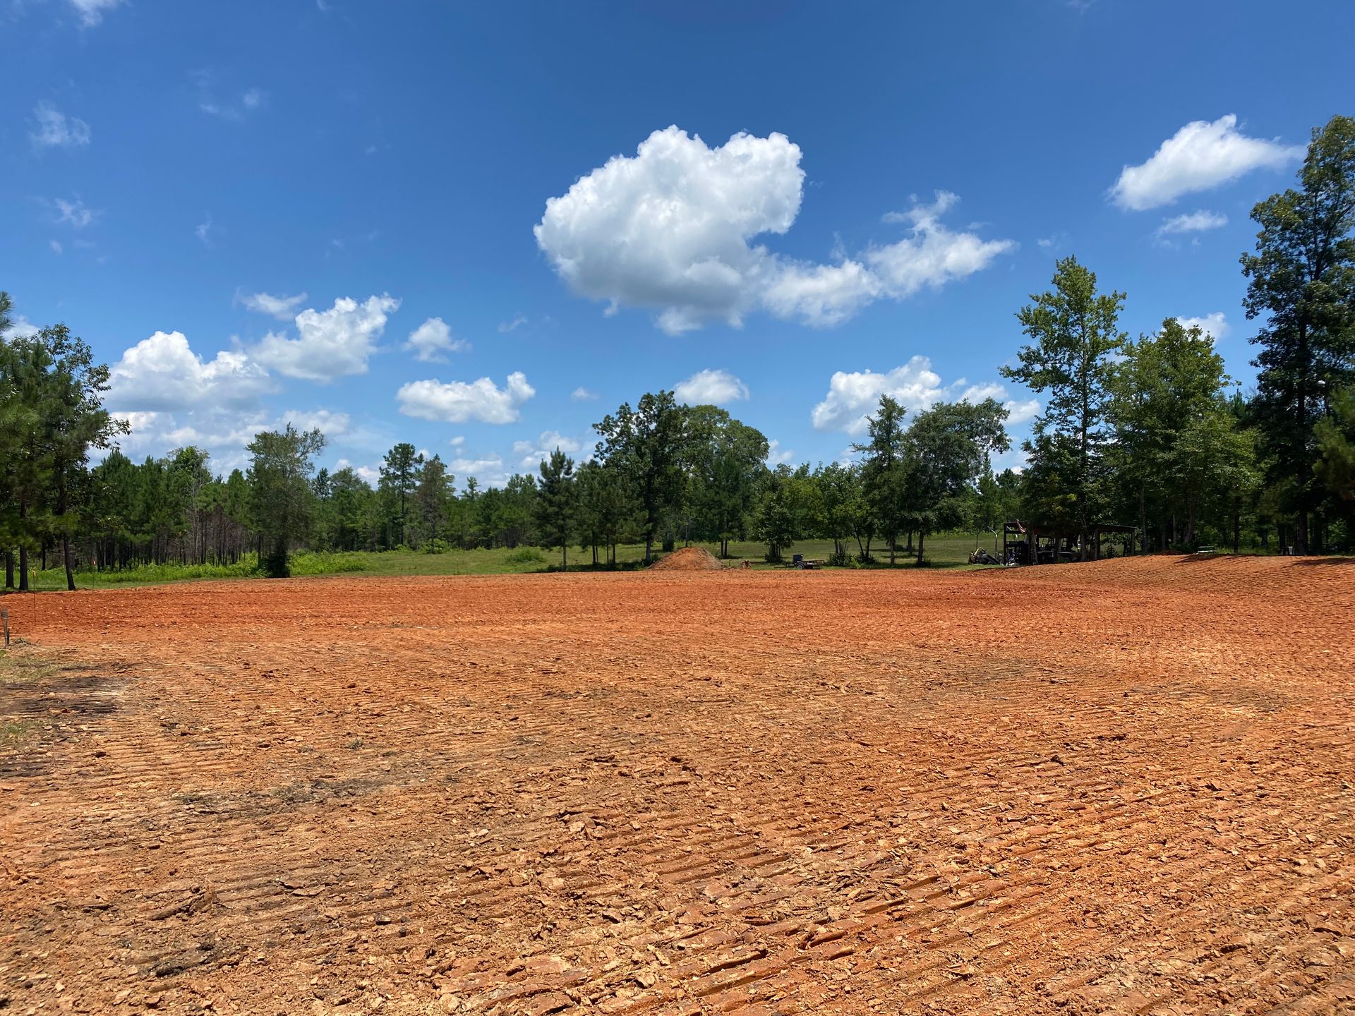
[[1069,253],[1249,382],[1248,211],[1351,112],[1352,38],[1335,1],[0,0],[0,287],[114,364],[136,457],[290,419],[501,482],[683,382],[791,462],[881,391],[1019,439],[997,371]]

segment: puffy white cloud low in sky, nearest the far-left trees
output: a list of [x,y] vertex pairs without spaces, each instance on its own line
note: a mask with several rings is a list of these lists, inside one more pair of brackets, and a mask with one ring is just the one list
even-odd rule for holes
[[159,413],[251,406],[271,390],[267,373],[243,351],[222,350],[203,360],[183,332],[156,332],[112,364],[104,401],[114,409]]

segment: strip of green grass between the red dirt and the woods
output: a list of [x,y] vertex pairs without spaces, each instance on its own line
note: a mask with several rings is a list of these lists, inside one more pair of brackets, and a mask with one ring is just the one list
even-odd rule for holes
[[[717,553],[714,543],[696,543]],[[947,534],[927,538],[927,564],[931,568],[969,568],[969,551],[974,549],[974,536],[969,534]],[[982,546],[993,550],[992,535],[982,539]],[[850,547],[855,551],[855,543]],[[733,542],[729,545],[730,564],[748,561],[753,568],[775,569],[785,565],[768,565],[763,561],[767,547],[753,542]],[[833,553],[832,541],[801,541],[786,550],[806,558],[828,558]],[[879,545],[871,547],[875,557],[873,568],[889,568],[889,554],[881,553]],[[617,561],[622,566],[637,566],[645,555],[642,543],[617,547]],[[291,561],[293,576],[320,574],[370,574],[370,576],[424,576],[424,574],[524,574],[545,572],[558,566],[560,549],[516,547],[495,550],[447,550],[440,554],[421,551],[347,551],[333,554],[298,553]],[[913,558],[902,551],[896,555],[896,568],[913,568]],[[123,572],[76,572],[76,585],[83,589],[96,589],[117,585],[153,585],[157,583],[179,583],[198,578],[255,578],[257,577],[253,555],[245,555],[234,565],[144,565]],[[592,551],[569,549],[569,570],[591,570]],[[49,568],[31,573],[34,589],[57,591],[66,588],[65,572]]]

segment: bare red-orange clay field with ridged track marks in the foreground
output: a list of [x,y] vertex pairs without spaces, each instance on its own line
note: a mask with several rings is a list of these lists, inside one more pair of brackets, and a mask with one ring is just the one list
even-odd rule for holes
[[0,603],[14,1012],[1355,1012],[1351,562]]

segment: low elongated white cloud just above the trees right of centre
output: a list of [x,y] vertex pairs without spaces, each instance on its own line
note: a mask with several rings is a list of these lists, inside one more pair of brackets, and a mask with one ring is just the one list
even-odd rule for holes
[[889,396],[909,413],[930,409],[947,400],[981,402],[992,398],[1011,413],[1008,424],[1024,423],[1039,412],[1038,401],[1008,398],[1007,387],[997,382],[970,385],[958,378],[943,385],[928,358],[913,356],[904,366],[885,374],[869,370],[835,373],[828,382],[828,394],[814,406],[810,420],[816,431],[864,433],[867,417],[879,406],[881,396]]

